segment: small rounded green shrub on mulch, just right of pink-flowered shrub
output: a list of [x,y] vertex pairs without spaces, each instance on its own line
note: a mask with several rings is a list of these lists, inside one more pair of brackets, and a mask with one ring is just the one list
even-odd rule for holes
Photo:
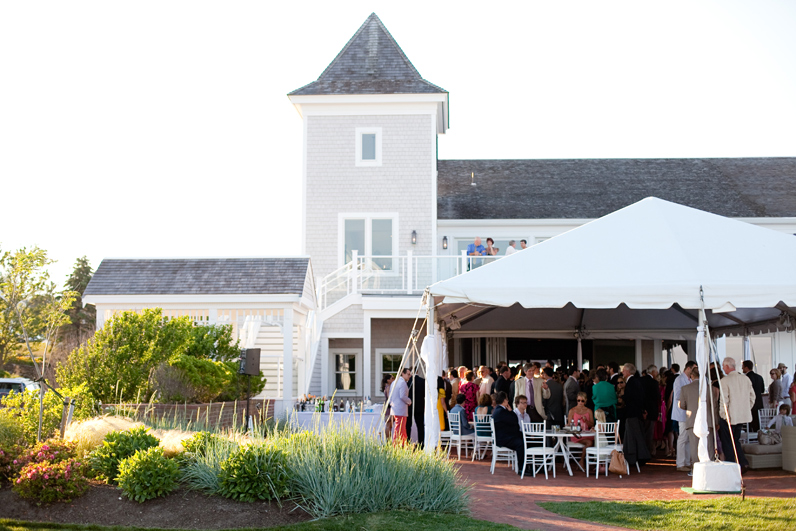
[[117,481],[125,496],[143,503],[169,494],[177,486],[179,467],[158,447],[138,450],[119,463]]

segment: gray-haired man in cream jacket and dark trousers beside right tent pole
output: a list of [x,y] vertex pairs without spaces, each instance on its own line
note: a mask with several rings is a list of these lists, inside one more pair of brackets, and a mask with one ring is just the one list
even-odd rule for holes
[[749,463],[741,447],[741,426],[752,422],[755,405],[755,390],[752,381],[735,370],[735,359],[727,356],[721,368],[726,376],[721,380],[721,404],[719,405],[719,439],[724,451],[724,460],[741,465],[746,472]]

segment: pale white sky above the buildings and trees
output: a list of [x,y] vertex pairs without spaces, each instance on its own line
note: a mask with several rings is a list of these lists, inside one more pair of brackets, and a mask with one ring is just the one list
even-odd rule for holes
[[[796,2],[0,3],[0,249],[301,251],[301,119],[375,11],[442,159],[796,156]],[[573,191],[582,193],[583,191]]]

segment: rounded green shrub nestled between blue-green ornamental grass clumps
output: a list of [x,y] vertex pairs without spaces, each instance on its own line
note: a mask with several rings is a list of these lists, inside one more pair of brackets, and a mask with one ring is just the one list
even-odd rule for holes
[[221,496],[238,501],[278,500],[290,494],[285,456],[271,445],[240,447],[221,463],[218,482]]

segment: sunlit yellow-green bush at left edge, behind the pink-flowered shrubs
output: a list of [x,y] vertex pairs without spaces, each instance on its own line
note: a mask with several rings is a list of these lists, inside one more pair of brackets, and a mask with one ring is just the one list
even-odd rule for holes
[[[75,399],[73,420],[83,420],[94,416],[94,400],[85,385],[74,388],[62,387],[58,392]],[[4,408],[0,409],[0,426],[15,423],[22,431],[22,438],[28,443],[36,442],[39,428],[39,392],[35,390],[16,393],[12,391],[3,398]],[[55,435],[61,426],[64,403],[50,390],[44,393],[44,414],[42,416],[42,439]]]

